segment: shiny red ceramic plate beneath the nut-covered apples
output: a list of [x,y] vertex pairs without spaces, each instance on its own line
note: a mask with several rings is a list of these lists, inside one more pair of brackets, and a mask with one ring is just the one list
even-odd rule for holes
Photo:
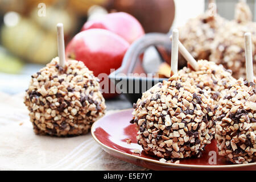
[[[154,170],[256,170],[256,163],[230,164],[218,155],[216,164],[210,165],[209,159],[214,152],[218,153],[215,140],[205,147],[201,158],[182,159],[179,164],[160,162],[159,158],[143,152],[142,147],[137,144],[136,126],[129,122],[133,117],[132,111],[133,109],[128,109],[108,114],[92,126],[92,136],[96,142],[118,159]],[[126,142],[127,139],[131,139],[130,144]],[[142,152],[136,154],[134,150]]]

